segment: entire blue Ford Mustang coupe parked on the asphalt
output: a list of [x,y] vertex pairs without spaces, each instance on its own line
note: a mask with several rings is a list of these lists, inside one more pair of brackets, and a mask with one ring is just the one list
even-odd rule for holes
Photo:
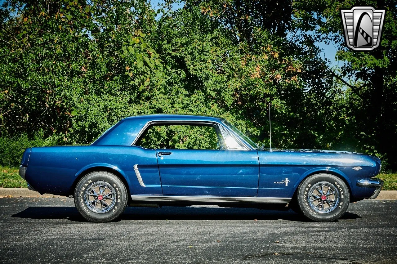
[[27,148],[19,174],[39,193],[74,197],[92,222],[129,206],[293,209],[318,222],[376,198],[380,159],[355,152],[258,148],[223,118],[121,119],[91,145]]

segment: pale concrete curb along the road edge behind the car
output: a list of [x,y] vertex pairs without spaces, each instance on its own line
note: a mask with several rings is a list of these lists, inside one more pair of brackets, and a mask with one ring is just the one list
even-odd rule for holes
[[[27,188],[0,188],[0,198],[3,197],[65,198],[66,196],[51,195],[48,193],[44,193],[43,195],[40,195],[40,193],[29,190]],[[397,200],[397,191],[380,191],[378,197],[375,200]]]

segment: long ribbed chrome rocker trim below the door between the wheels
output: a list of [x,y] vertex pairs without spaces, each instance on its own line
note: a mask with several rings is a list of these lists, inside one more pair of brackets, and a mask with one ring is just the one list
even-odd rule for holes
[[286,204],[288,197],[247,197],[247,196],[193,196],[193,195],[131,195],[134,201],[156,202],[247,202]]

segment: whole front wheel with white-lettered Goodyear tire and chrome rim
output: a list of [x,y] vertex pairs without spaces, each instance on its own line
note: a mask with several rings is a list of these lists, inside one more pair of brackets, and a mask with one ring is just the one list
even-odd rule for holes
[[297,202],[307,218],[316,222],[331,222],[345,214],[350,193],[342,179],[320,173],[301,182],[297,191]]

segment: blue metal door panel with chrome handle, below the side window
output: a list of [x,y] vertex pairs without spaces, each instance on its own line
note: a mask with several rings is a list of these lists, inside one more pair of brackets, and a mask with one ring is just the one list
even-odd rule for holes
[[156,152],[164,195],[257,194],[256,151],[157,149]]

